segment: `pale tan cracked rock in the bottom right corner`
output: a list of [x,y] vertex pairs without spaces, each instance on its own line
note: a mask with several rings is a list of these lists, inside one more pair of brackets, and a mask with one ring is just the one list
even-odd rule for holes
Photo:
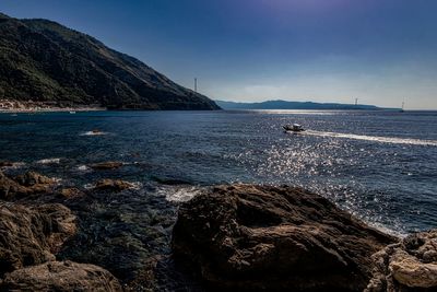
[[373,258],[367,292],[437,290],[437,230],[412,234]]

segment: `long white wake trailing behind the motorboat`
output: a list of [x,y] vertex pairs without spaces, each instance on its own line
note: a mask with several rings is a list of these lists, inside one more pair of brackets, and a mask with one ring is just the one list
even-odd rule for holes
[[305,131],[304,133],[311,135],[311,136],[318,136],[318,137],[332,137],[332,138],[343,138],[343,139],[354,139],[354,140],[366,140],[366,141],[392,143],[392,144],[435,145],[435,147],[437,147],[437,141],[435,141],[435,140],[404,139],[404,138],[365,136],[365,135],[341,133],[341,132],[322,132],[322,131],[312,131],[312,130]]

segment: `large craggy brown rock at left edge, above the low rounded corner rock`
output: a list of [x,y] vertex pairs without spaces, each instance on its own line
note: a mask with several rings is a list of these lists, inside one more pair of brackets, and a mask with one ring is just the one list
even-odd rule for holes
[[0,277],[4,272],[54,260],[75,233],[75,217],[59,203],[25,207],[0,202]]

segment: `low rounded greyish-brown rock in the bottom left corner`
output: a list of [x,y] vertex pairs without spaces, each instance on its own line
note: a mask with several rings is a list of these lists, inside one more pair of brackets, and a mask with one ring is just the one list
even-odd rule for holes
[[2,291],[122,291],[107,270],[73,261],[50,261],[8,273]]

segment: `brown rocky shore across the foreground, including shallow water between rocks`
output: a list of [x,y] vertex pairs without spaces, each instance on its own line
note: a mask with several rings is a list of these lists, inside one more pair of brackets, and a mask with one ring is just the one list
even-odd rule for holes
[[[205,188],[178,207],[176,224],[168,209],[120,229],[138,214],[102,208],[135,200],[135,191],[120,179],[83,189],[35,172],[0,172],[0,291],[437,289],[437,231],[400,240],[305,189],[258,185]],[[93,233],[84,232],[90,225]],[[172,252],[160,255],[164,245]],[[184,284],[168,283],[168,265]]]

